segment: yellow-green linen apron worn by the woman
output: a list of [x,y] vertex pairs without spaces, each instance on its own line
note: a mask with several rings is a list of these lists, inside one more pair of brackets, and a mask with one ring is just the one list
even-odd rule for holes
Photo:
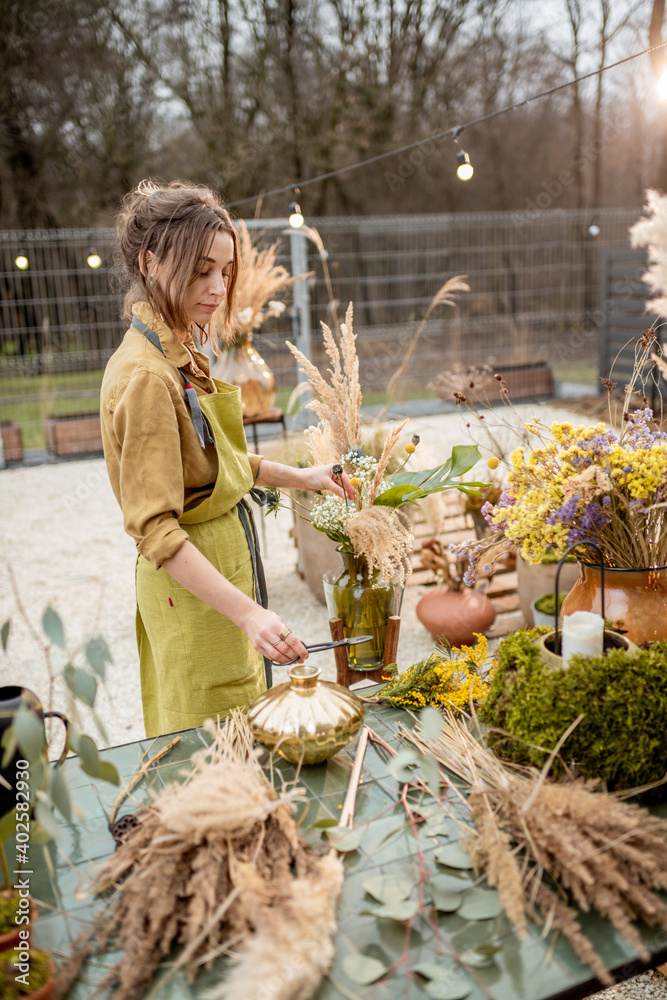
[[[253,484],[241,393],[237,386],[214,382],[218,391],[197,401],[213,434],[218,477],[211,495],[184,511],[178,523],[230,583],[259,601],[241,520],[249,514],[243,496]],[[266,690],[263,658],[242,629],[141,555],[136,585],[141,697],[148,737],[223,717],[236,706],[250,705]]]

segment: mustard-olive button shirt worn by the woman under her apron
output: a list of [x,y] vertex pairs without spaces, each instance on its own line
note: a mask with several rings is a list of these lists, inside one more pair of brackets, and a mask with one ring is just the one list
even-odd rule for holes
[[[210,496],[218,475],[215,446],[199,444],[178,369],[198,396],[216,387],[193,341],[182,344],[147,302],[132,313],[157,334],[164,354],[135,327],[126,332],[102,380],[102,442],[125,530],[159,569],[188,539],[178,518]],[[261,457],[248,458],[256,478]]]

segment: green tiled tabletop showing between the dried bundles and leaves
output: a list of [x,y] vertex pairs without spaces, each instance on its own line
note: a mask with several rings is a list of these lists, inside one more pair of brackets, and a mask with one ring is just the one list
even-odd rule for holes
[[[409,725],[410,722],[411,717],[401,710],[367,706],[366,723],[391,745],[398,744],[399,724]],[[126,784],[141,763],[171,738],[164,736],[157,740],[111,747],[102,752],[102,757],[115,764],[124,779],[123,784]],[[200,750],[209,741],[210,737],[203,730],[184,732],[181,742],[151,768],[132,791],[119,815],[150,802],[152,795],[167,782],[182,780],[193,751]],[[301,771],[300,781],[307,790],[307,797],[298,807],[298,819],[310,842],[320,842],[324,836],[323,829],[313,828],[313,824],[322,819],[336,819],[340,815],[355,747],[356,740],[326,764],[304,767]],[[268,764],[268,755],[266,759]],[[64,771],[80,810],[80,818],[72,824],[63,824],[57,845],[31,845],[30,856],[30,890],[44,904],[35,925],[34,944],[56,955],[65,952],[69,942],[101,908],[108,905],[106,900],[91,899],[82,892],[80,883],[93,866],[113,853],[114,842],[107,819],[119,794],[117,787],[84,774],[76,758],[66,761]],[[274,780],[292,781],[296,777],[296,768],[274,759],[272,773]],[[493,919],[470,921],[456,913],[438,913],[434,920],[429,921],[427,915],[420,911],[410,934],[406,933],[403,923],[365,914],[364,910],[377,904],[366,894],[363,882],[378,874],[403,875],[416,882],[419,851],[427,873],[437,872],[439,881],[450,883],[453,889],[467,890],[475,882],[471,871],[446,868],[434,859],[438,848],[456,840],[455,824],[451,822],[448,829],[438,836],[427,835],[425,830],[421,830],[418,840],[415,840],[410,829],[406,828],[405,812],[398,802],[398,795],[399,786],[390,774],[386,752],[369,743],[357,795],[355,826],[370,825],[359,849],[343,855],[346,876],[338,914],[335,957],[316,1000],[427,997],[428,981],[413,971],[415,965],[426,961],[451,969],[449,982],[452,985],[467,983],[471,1000],[578,1000],[600,988],[564,938],[555,939],[551,934],[545,938],[541,928],[529,923],[528,937],[521,941],[504,914]],[[462,816],[465,816],[465,810]],[[12,845],[8,846],[11,849]],[[50,855],[50,865],[46,863],[45,851]],[[639,928],[652,956],[651,962],[646,964],[601,916],[582,914],[582,925],[619,982],[667,960],[667,934],[659,928]],[[486,968],[474,968],[467,963],[463,968],[457,961],[457,956],[471,955],[476,948],[484,945],[499,949]],[[355,984],[343,969],[345,956],[355,951],[393,965],[391,974],[370,986]],[[95,993],[95,984],[104,975],[105,960],[111,962],[114,958],[117,955],[105,956],[104,960],[96,958],[85,966],[68,1000],[91,998]],[[155,1000],[201,997],[206,988],[224,976],[224,964],[225,959],[221,959],[212,969],[202,971],[192,985],[188,985],[185,975],[178,972],[166,986],[151,991],[151,1000],[153,997]],[[102,997],[107,995],[101,994]]]

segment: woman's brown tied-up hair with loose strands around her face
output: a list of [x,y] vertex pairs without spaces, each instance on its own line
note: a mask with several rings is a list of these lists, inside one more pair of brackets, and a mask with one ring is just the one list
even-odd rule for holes
[[[185,292],[202,269],[218,232],[228,233],[234,243],[234,261],[227,285],[222,322],[215,324],[211,346],[217,354],[219,340],[229,343],[236,322],[236,279],[239,248],[229,212],[210,188],[173,181],[160,187],[142,181],[126,195],[116,219],[116,256],[129,288],[123,303],[123,317],[132,318],[135,302],[146,300],[162,314],[179,339],[190,328],[183,301]],[[151,252],[160,261],[163,288],[147,280],[139,262]],[[144,271],[148,268],[144,265]],[[201,331],[202,342],[208,339]],[[213,329],[213,324],[211,324]]]

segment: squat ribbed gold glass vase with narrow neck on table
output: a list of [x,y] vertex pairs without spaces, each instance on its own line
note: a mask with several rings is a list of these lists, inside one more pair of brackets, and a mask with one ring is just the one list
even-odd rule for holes
[[361,700],[321,681],[319,667],[292,667],[290,679],[248,709],[253,736],[291,764],[320,764],[350,742],[364,719]]

